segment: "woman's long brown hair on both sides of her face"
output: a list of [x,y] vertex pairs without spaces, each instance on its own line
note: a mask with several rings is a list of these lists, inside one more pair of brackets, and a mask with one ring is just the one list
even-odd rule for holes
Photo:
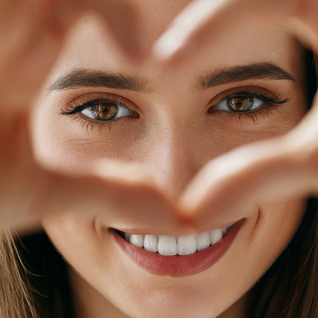
[[[315,63],[314,63],[315,61]],[[318,58],[307,53],[309,102]],[[318,204],[309,199],[290,244],[252,287],[250,318],[318,317]],[[67,266],[45,233],[0,237],[0,317],[76,318]]]

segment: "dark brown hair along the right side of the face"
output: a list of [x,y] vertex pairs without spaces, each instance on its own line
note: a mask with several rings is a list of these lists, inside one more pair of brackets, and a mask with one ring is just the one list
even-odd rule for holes
[[[318,55],[306,52],[308,104],[317,91]],[[253,287],[250,318],[318,317],[318,199],[275,263]]]

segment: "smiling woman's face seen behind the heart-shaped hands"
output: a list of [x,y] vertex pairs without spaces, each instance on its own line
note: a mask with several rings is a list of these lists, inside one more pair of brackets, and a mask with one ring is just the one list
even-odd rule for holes
[[[149,47],[185,2],[132,1]],[[71,172],[100,159],[134,163],[177,200],[209,160],[285,134],[304,116],[305,54],[282,27],[242,21],[240,29],[229,27],[226,36],[211,39],[210,49],[198,56],[175,69],[151,60],[131,65],[102,22],[87,15],[70,35],[48,79],[50,89],[33,109],[35,156],[51,169]],[[43,226],[70,265],[76,299],[87,317],[214,318],[284,250],[304,206],[304,199],[292,198],[239,212],[245,222],[226,253],[212,266],[184,275],[156,272],[154,265],[145,268],[128,256],[118,243],[124,239],[109,228],[167,235],[155,223],[146,229],[133,214],[110,217],[107,208],[87,216],[65,211],[43,217]],[[141,248],[134,248],[139,257]],[[154,252],[146,253],[151,262]],[[166,257],[169,267],[188,256]]]

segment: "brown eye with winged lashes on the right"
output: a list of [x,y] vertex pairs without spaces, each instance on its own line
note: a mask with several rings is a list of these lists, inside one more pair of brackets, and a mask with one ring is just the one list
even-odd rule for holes
[[265,89],[231,89],[219,94],[209,103],[208,112],[221,111],[229,115],[248,116],[254,121],[258,115],[268,116],[274,108],[291,100],[291,97],[283,96],[282,93],[273,94]]

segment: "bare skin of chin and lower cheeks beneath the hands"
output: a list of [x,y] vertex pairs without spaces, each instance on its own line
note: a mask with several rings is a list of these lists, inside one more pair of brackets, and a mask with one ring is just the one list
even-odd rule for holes
[[223,258],[200,274],[178,279],[134,266],[107,231],[96,230],[93,218],[70,212],[48,216],[43,225],[84,285],[131,317],[173,313],[182,318],[186,309],[186,317],[210,318],[235,303],[277,259],[299,227],[305,206],[305,199],[294,199],[246,212],[246,225]]

